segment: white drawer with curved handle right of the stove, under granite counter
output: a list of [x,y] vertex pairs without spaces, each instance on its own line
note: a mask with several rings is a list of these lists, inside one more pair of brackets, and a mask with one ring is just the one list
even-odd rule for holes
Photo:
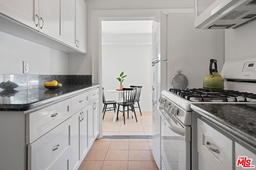
[[233,141],[210,124],[201,119],[197,120],[198,153],[210,165],[209,169],[232,169]]

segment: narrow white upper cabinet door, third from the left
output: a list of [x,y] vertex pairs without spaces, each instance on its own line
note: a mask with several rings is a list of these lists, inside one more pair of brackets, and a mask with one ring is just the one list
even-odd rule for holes
[[63,2],[63,42],[76,48],[76,0]]

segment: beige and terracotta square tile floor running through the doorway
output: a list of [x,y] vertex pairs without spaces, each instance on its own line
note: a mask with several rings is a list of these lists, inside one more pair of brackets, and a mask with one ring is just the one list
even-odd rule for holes
[[[114,112],[106,112],[103,136],[152,135],[152,113],[129,115],[126,124],[122,114],[113,122]],[[158,170],[152,155],[152,139],[96,139],[79,170]]]

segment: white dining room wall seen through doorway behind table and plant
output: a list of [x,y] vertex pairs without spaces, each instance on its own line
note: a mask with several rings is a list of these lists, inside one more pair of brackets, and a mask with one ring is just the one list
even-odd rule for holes
[[102,87],[106,100],[118,100],[118,94],[107,92],[118,89],[116,78],[124,71],[123,85],[142,86],[140,108],[152,110],[151,94],[151,34],[102,35]]

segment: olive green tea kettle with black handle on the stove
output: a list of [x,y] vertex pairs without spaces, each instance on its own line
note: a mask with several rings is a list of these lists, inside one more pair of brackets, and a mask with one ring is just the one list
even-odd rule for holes
[[[212,63],[214,63],[214,69],[212,69]],[[217,60],[210,59],[210,74],[204,76],[204,89],[208,90],[223,90],[224,78],[218,73]]]

